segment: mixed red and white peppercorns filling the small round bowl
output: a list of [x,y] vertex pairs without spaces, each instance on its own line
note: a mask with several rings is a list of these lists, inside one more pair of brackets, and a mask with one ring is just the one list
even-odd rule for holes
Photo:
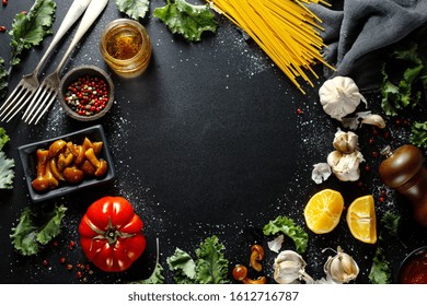
[[79,76],[66,92],[66,103],[81,116],[93,116],[103,110],[108,102],[105,80],[89,74]]

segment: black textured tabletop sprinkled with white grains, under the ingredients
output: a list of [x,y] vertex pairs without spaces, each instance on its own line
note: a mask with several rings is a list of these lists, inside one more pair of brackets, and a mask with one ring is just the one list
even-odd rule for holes
[[[69,1],[56,2],[54,31],[59,27]],[[226,246],[230,271],[236,263],[247,264],[251,245],[262,244],[267,252],[264,273],[268,282],[274,282],[275,255],[266,245],[273,237],[263,236],[264,224],[278,215],[287,215],[309,232],[303,208],[312,195],[326,187],[339,190],[346,205],[357,197],[373,195],[379,220],[386,210],[402,214],[399,233],[403,243],[390,237],[380,224],[378,227],[395,276],[404,257],[412,249],[426,245],[426,231],[412,221],[408,203],[379,181],[377,168],[381,157],[372,157],[372,152],[378,152],[383,144],[395,148],[406,143],[408,127],[395,125],[394,119],[388,118],[390,138],[384,137],[385,131],[376,134],[371,127],[358,130],[361,152],[367,160],[361,166],[361,186],[339,183],[336,178],[316,186],[311,180],[312,165],[326,161],[339,127],[324,114],[319,103],[316,92],[323,80],[315,80],[314,89],[302,84],[307,90],[307,95],[302,95],[253,42],[245,40],[226,19],[217,16],[217,34],[204,34],[201,43],[186,43],[152,16],[152,10],[165,3],[151,2],[148,16],[141,20],[153,47],[149,69],[143,75],[120,79],[101,58],[102,28],[123,17],[114,1],[109,1],[62,71],[64,74],[76,66],[91,63],[111,73],[116,95],[109,114],[92,123],[78,122],[67,117],[57,103],[38,126],[27,126],[19,120],[0,123],[11,138],[4,151],[16,162],[14,189],[0,191],[0,282],[80,283],[84,280],[88,283],[125,283],[145,279],[155,262],[155,238],[160,240],[160,262],[165,268],[166,280],[172,282],[166,257],[176,247],[194,256],[199,243],[211,235],[217,235]],[[28,10],[32,4],[28,0],[10,0],[1,8],[0,23],[10,28],[15,13]],[[71,33],[73,31],[76,26]],[[39,47],[24,54],[22,63],[13,69],[10,89],[34,69],[50,40],[51,36],[48,36]],[[43,74],[54,70],[70,40],[71,35],[50,57]],[[0,56],[8,62],[9,35],[0,34]],[[318,70],[321,72],[321,68]],[[370,109],[381,114],[380,96],[371,94],[367,98]],[[302,113],[298,114],[298,109]],[[33,204],[16,148],[95,123],[105,129],[117,172],[116,181],[107,187]],[[373,144],[370,139],[374,140]],[[366,165],[370,170],[365,170]],[[386,192],[384,202],[379,201],[382,190]],[[79,247],[78,224],[90,203],[107,195],[123,196],[134,204],[145,222],[147,251],[126,272],[108,274],[91,267],[91,271],[81,270],[83,276],[79,279],[77,266],[89,262]],[[55,203],[68,208],[58,245],[49,245],[33,257],[16,254],[9,235],[23,208],[33,205],[47,210]],[[309,274],[322,278],[323,264],[327,256],[333,255],[322,250],[336,249],[339,245],[360,266],[357,282],[369,282],[377,245],[356,240],[345,223],[345,214],[331,234],[316,236],[309,232],[309,248],[303,255]],[[77,246],[69,249],[71,240]],[[285,239],[286,248],[295,249],[289,238]],[[61,257],[73,264],[71,271],[59,263]],[[48,267],[42,264],[45,259]]]

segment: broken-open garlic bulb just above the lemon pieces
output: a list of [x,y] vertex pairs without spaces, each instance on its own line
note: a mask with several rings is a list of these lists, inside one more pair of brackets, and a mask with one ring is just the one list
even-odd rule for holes
[[363,155],[359,151],[349,154],[333,151],[327,155],[327,164],[335,176],[343,181],[355,181],[360,177],[359,164]]

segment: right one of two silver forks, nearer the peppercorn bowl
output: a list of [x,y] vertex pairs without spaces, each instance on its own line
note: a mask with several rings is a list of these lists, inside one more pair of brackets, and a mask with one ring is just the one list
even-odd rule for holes
[[38,120],[46,114],[50,105],[54,103],[56,96],[58,95],[59,83],[60,83],[60,72],[62,67],[67,62],[69,55],[74,49],[76,45],[80,42],[83,35],[95,22],[97,16],[102,13],[108,0],[93,0],[88,10],[85,11],[79,27],[77,28],[76,35],[72,38],[70,46],[68,47],[66,54],[64,55],[58,67],[53,73],[46,76],[42,85],[38,87],[35,93],[31,106],[24,113],[22,119],[31,125],[33,121],[37,125]]

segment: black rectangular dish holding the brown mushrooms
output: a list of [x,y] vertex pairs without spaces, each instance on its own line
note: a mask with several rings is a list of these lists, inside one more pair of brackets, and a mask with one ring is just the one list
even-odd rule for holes
[[[101,151],[100,158],[103,158],[105,162],[107,162],[107,165],[108,165],[107,173],[100,178],[95,178],[95,177],[84,178],[78,185],[71,185],[68,183],[60,183],[59,186],[55,189],[44,191],[44,192],[36,191],[32,186],[32,181],[37,176],[37,170],[36,170],[36,167],[37,167],[36,151],[37,151],[37,149],[48,149],[49,145],[54,141],[59,140],[59,139],[62,139],[65,141],[72,141],[73,143],[81,144],[85,137],[88,137],[89,140],[91,140],[92,142],[94,142],[94,141],[102,141],[103,142],[103,148]],[[101,125],[97,125],[97,126],[94,126],[91,128],[86,128],[86,129],[83,129],[83,130],[80,130],[77,132],[72,132],[69,134],[64,134],[64,136],[60,136],[57,138],[25,144],[25,145],[18,148],[18,151],[20,154],[23,169],[24,169],[25,180],[26,180],[26,184],[28,186],[30,197],[33,200],[33,202],[41,202],[41,201],[53,199],[53,198],[64,196],[64,195],[67,195],[70,192],[74,192],[74,191],[81,190],[83,188],[103,185],[103,184],[106,184],[108,181],[112,181],[116,176],[114,165],[113,165],[113,160],[112,160],[111,153],[108,151],[108,145],[106,142],[104,129]]]

